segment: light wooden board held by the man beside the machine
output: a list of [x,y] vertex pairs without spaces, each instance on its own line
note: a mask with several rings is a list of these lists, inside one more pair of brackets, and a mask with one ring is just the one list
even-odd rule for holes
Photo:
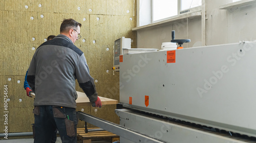
[[[76,92],[77,93],[77,99],[76,99],[76,105],[77,106],[90,106],[92,103],[90,102],[89,98],[86,96],[85,93],[82,92]],[[34,93],[30,94],[32,97],[35,97]],[[111,105],[111,104],[117,104],[118,101],[110,98],[100,97],[101,104],[102,105]]]

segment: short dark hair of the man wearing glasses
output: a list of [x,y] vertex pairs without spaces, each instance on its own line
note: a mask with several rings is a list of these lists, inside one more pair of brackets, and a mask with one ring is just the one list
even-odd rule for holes
[[78,25],[82,26],[81,23],[72,18],[64,19],[60,25],[60,33],[68,33],[71,28],[76,28]]

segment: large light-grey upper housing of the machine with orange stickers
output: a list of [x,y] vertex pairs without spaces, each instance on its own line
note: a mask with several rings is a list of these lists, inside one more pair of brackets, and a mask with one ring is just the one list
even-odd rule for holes
[[178,49],[172,56],[175,62],[167,63],[168,51],[123,55],[120,102],[256,136],[255,42]]

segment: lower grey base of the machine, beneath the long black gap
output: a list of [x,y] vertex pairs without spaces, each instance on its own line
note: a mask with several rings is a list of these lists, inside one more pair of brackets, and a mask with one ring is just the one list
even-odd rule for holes
[[[146,134],[148,136],[154,137],[161,140],[162,142],[189,142],[189,143],[245,143],[253,142],[251,140],[240,139],[232,136],[227,136],[225,134],[212,132],[206,129],[198,129],[195,127],[182,125],[167,119],[159,119],[157,117],[152,117],[150,115],[145,115],[143,113],[135,112],[130,109],[116,109],[117,116],[120,117],[120,125],[136,130],[137,132]],[[134,143],[134,141],[127,137],[120,136],[120,142],[123,143]],[[139,142],[139,141],[138,141]],[[141,142],[152,142],[145,138]],[[254,141],[255,142],[255,141]]]

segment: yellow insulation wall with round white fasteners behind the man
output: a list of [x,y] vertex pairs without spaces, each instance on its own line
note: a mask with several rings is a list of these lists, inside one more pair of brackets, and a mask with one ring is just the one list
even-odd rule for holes
[[[33,98],[26,96],[24,78],[35,49],[49,35],[58,35],[64,18],[82,24],[81,39],[75,42],[86,55],[99,96],[119,100],[119,73],[112,71],[114,41],[122,36],[136,46],[135,0],[1,0],[0,2],[0,124],[8,133],[31,132],[34,123]],[[34,40],[32,40],[34,39]],[[4,108],[4,87],[8,85],[8,108]],[[82,92],[78,84],[76,90]],[[78,106],[77,110],[119,123],[115,105],[102,108]],[[92,125],[89,125],[89,127]],[[79,121],[78,128],[84,122]]]

